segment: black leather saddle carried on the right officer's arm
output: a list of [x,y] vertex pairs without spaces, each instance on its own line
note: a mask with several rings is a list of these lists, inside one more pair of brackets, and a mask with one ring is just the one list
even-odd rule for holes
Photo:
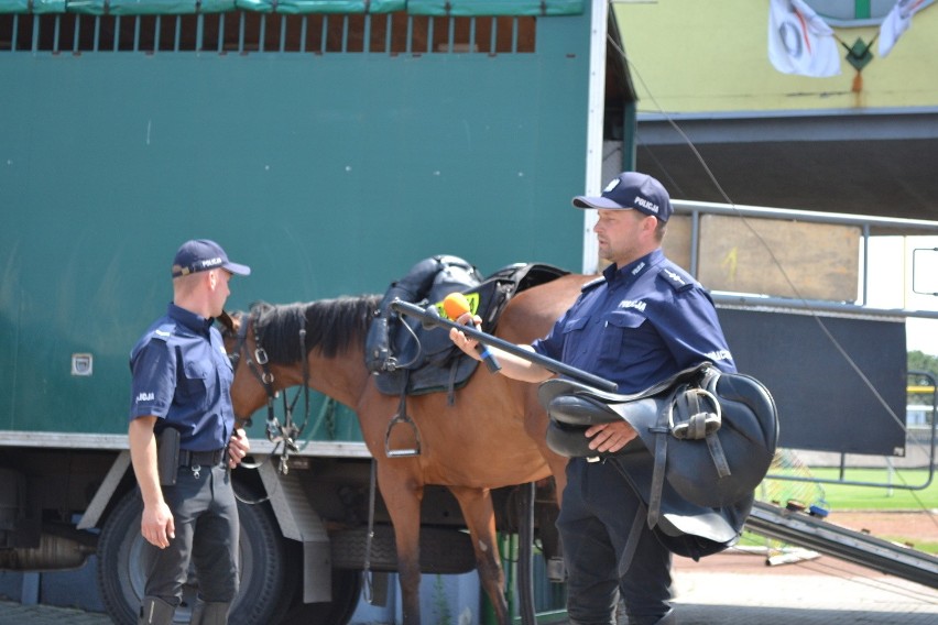
[[[556,379],[538,398],[548,447],[613,462],[672,551],[696,559],[735,542],[778,440],[775,402],[757,380],[701,363],[632,395]],[[583,431],[619,419],[639,437],[614,454],[589,449]]]

